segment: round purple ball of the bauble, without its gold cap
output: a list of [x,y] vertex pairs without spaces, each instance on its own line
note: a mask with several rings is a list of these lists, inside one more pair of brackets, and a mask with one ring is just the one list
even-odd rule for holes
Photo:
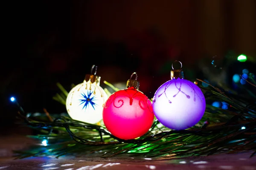
[[153,112],[164,126],[184,130],[197,124],[206,103],[201,89],[186,79],[172,79],[161,85],[153,98]]

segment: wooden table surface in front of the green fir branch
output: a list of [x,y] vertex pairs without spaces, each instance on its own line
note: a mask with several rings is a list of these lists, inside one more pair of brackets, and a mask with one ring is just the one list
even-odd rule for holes
[[212,156],[173,158],[145,158],[126,155],[102,159],[91,154],[83,157],[63,156],[14,159],[18,150],[34,141],[22,135],[1,136],[0,170],[256,170],[256,156],[252,152],[219,153]]

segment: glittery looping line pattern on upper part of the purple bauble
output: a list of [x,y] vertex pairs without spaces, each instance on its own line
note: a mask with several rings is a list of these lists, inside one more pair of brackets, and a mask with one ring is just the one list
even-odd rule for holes
[[[172,83],[175,83],[175,87],[176,87],[177,90],[178,90],[177,93],[176,93],[173,97],[177,96],[179,93],[182,93],[182,94],[186,95],[186,97],[187,97],[188,99],[190,99],[190,96],[181,90],[182,82],[180,82],[179,85],[177,85],[177,82],[175,81],[175,79],[174,79],[173,81],[170,81],[170,82],[166,85],[166,87],[165,87],[163,93],[159,94],[157,97],[160,97],[160,96],[162,96],[162,94],[165,94],[166,99],[168,99],[169,103],[172,103],[172,101],[169,99],[169,97],[168,97],[167,94],[166,94],[167,88],[169,88],[169,86],[172,85]],[[201,100],[201,102],[203,102],[203,100],[202,100],[201,97],[198,95],[198,93],[195,91],[195,88],[192,87],[192,85],[189,85],[187,82],[183,82],[183,83],[185,83],[186,85],[188,85],[188,86],[194,91],[194,98],[193,98],[193,99],[194,99],[194,102],[196,101],[196,98],[195,98],[196,95],[197,95],[198,98]],[[154,99],[153,102],[155,102],[155,99]]]

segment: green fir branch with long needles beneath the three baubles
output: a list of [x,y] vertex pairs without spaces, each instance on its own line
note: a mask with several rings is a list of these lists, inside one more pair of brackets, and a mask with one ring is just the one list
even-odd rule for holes
[[[204,82],[201,79],[198,81]],[[105,81],[104,81],[105,82]],[[209,84],[207,82],[204,82]],[[115,91],[115,88],[108,82]],[[210,84],[209,84],[210,85]],[[61,94],[54,97],[64,104],[67,91],[58,84]],[[102,152],[103,158],[127,153],[131,156],[205,156],[219,152],[236,153],[244,150],[256,150],[256,108],[255,101],[239,94],[228,94],[223,89],[210,85],[201,87],[206,101],[227,102],[232,109],[224,110],[207,105],[203,118],[197,125],[187,130],[170,130],[155,119],[148,133],[132,140],[118,139],[108,132],[104,125],[93,125],[67,116],[51,117],[54,121],[45,121],[45,116],[28,118],[20,114],[25,125],[38,130],[38,135],[30,138],[48,139],[48,146],[35,145],[29,150],[17,151],[17,158],[29,156],[63,156]],[[37,118],[37,119],[35,119]],[[206,125],[204,122],[210,122]],[[244,127],[244,128],[241,128]],[[251,156],[254,156],[254,151]]]

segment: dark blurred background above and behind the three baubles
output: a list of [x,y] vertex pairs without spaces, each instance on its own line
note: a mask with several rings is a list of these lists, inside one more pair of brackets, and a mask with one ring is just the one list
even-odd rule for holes
[[[1,124],[15,118],[10,96],[26,112],[66,112],[52,99],[56,83],[69,91],[92,65],[102,87],[136,71],[148,97],[170,79],[176,59],[186,79],[215,84],[230,85],[233,74],[255,67],[255,0],[36,0],[2,7]],[[236,61],[240,54],[246,63]]]

